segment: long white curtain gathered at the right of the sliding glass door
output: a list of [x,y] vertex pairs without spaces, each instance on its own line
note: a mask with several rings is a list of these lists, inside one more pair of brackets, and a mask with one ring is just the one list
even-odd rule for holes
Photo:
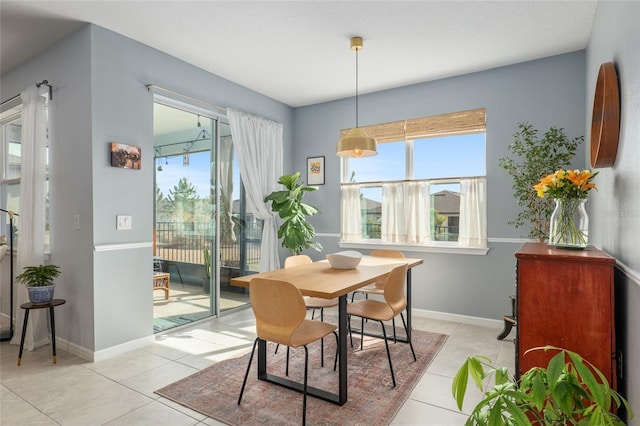
[[264,221],[260,272],[280,269],[278,257],[278,225],[264,197],[278,188],[282,176],[282,124],[227,110],[233,142],[238,151],[240,175],[247,193],[247,207]]

